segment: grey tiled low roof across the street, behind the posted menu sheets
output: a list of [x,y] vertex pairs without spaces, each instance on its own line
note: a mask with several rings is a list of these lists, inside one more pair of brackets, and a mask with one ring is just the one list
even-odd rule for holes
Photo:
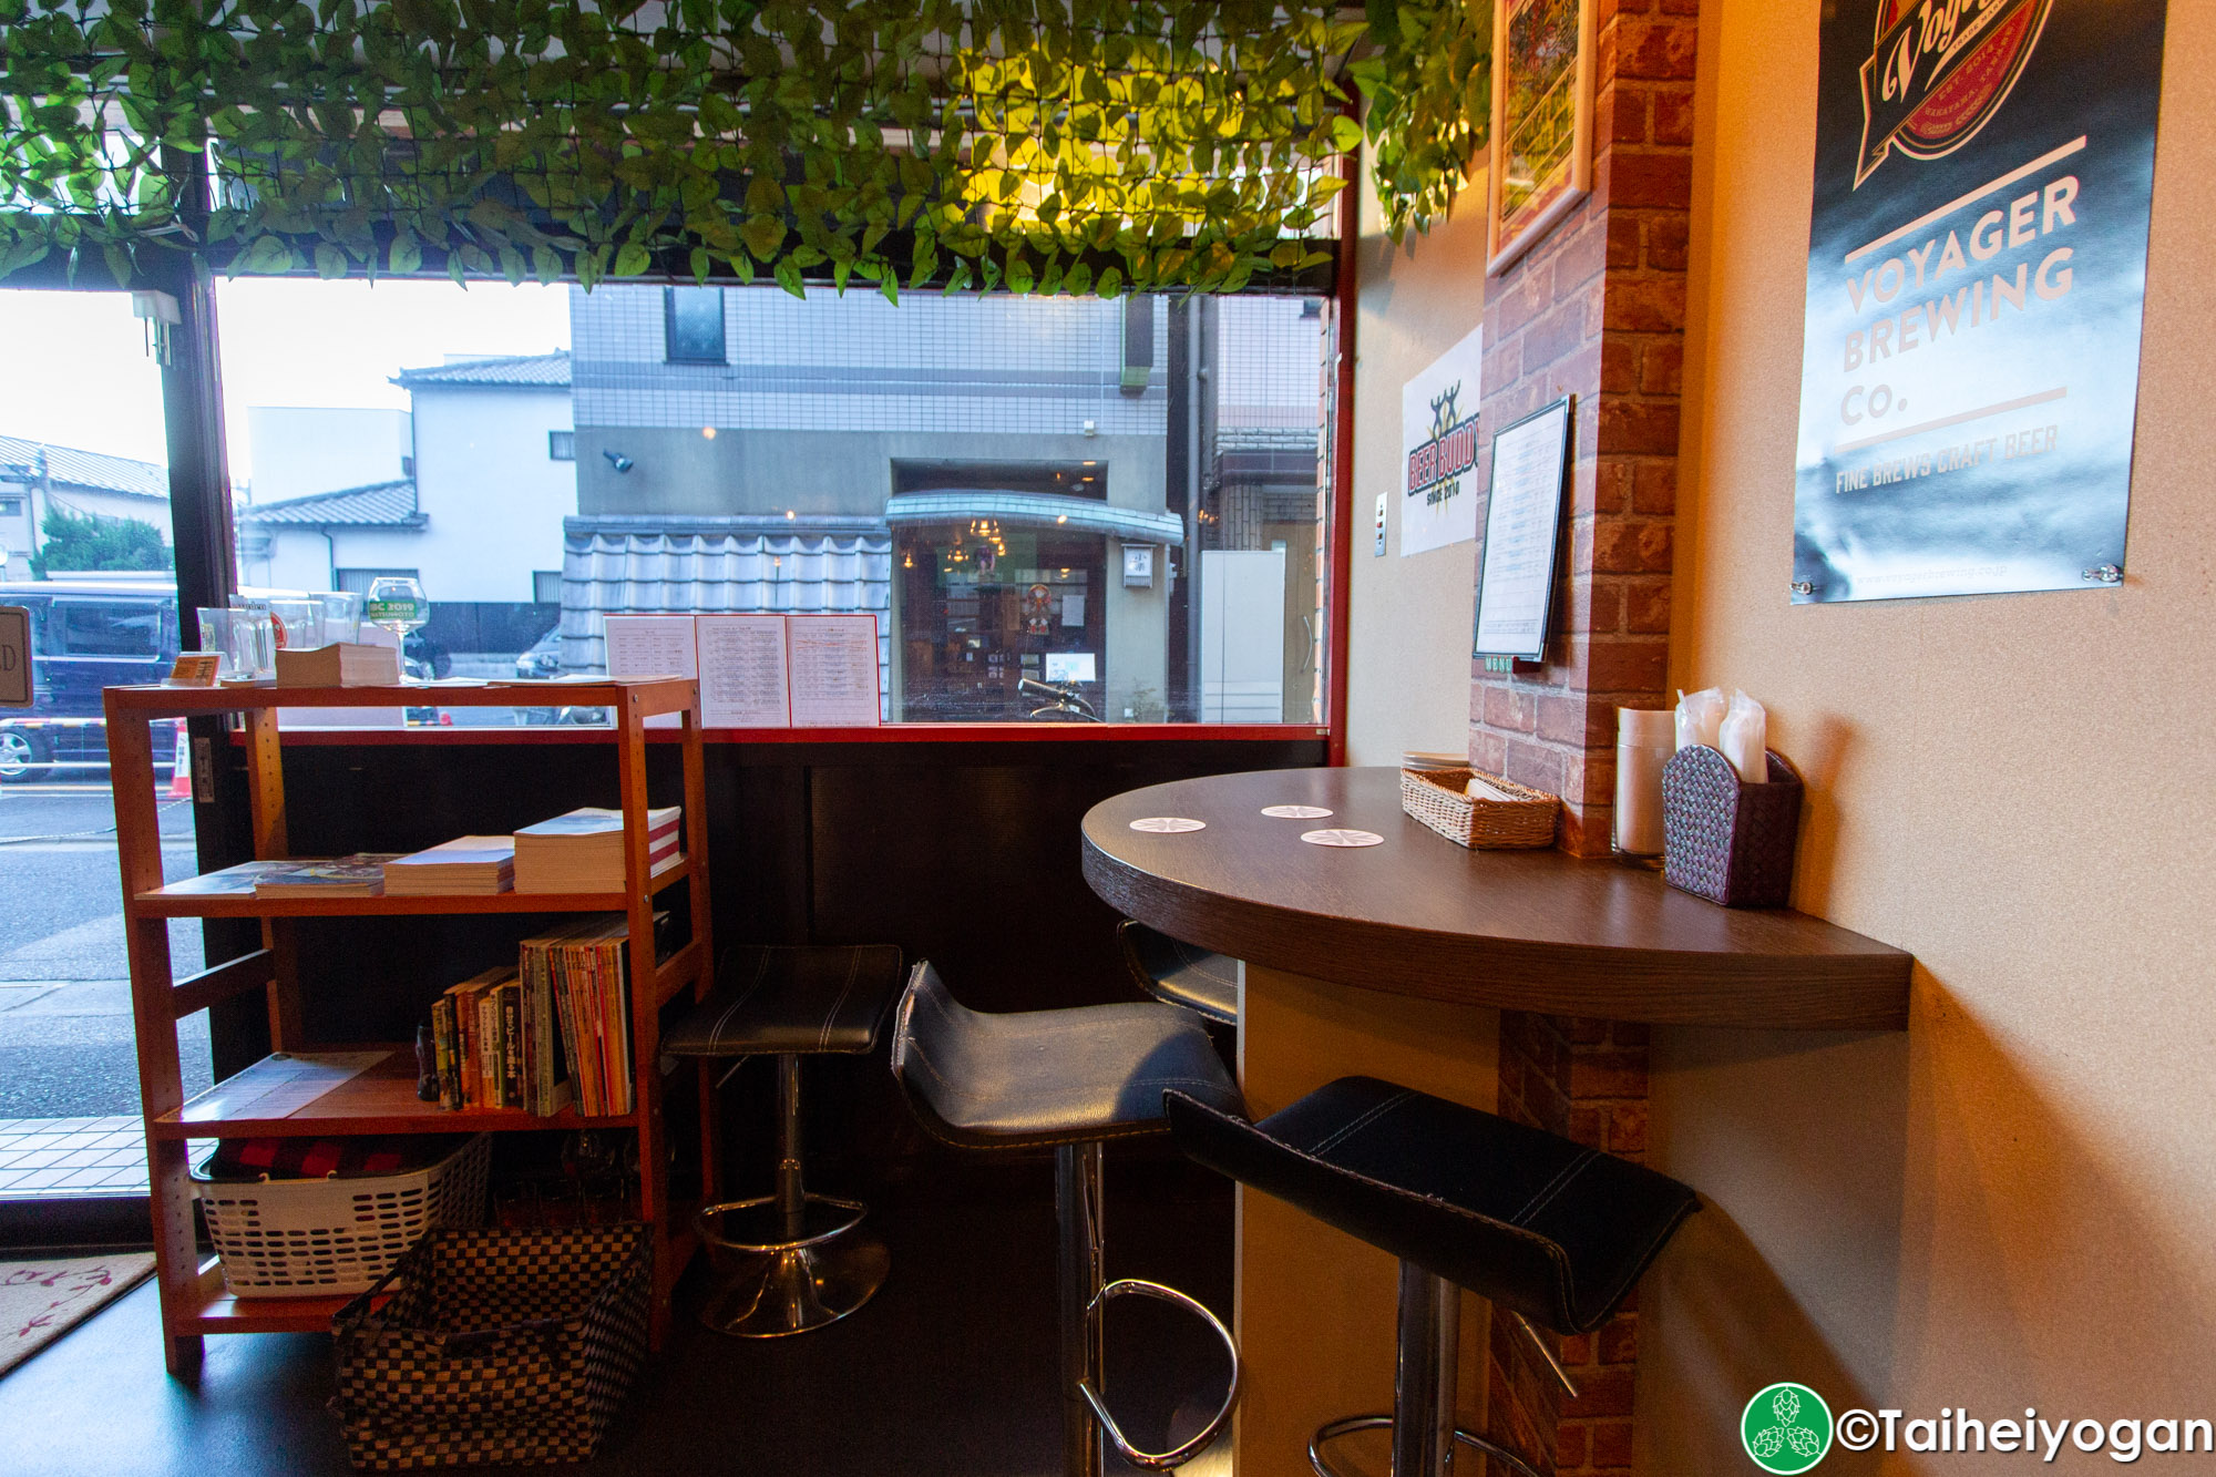
[[607,665],[603,614],[875,614],[878,703],[893,661],[893,537],[855,517],[563,519],[561,663]]

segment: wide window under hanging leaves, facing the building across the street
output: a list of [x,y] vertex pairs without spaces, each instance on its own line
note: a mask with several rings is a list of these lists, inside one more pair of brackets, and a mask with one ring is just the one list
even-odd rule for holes
[[1323,716],[1316,299],[217,291],[242,583],[417,572],[439,672],[869,614],[886,721]]

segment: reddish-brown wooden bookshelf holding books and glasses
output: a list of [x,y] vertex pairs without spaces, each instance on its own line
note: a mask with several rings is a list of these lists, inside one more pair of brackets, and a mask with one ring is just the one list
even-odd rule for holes
[[[707,878],[707,778],[700,754],[700,694],[694,681],[596,683],[483,683],[390,687],[109,687],[109,763],[115,785],[115,838],[122,858],[124,929],[131,951],[131,1007],[137,1031],[140,1098],[146,1120],[162,1328],[173,1373],[197,1366],[208,1333],[328,1331],[346,1297],[233,1297],[222,1269],[208,1262],[193,1235],[193,1182],[186,1140],[346,1135],[346,1133],[474,1133],[532,1129],[620,1129],[640,1135],[640,1213],[654,1229],[654,1342],[669,1324],[669,1288],[691,1257],[689,1206],[669,1195],[663,1149],[660,1009],[678,994],[705,998],[711,985]],[[290,858],[284,801],[284,736],[279,707],[607,707],[625,825],[625,887],[607,894],[490,894],[417,898],[257,898],[215,889],[206,878],[164,885],[162,836],[153,783],[153,723],[193,714],[230,714],[244,727],[246,776],[253,803],[257,860]],[[683,807],[691,847],[660,869],[647,865],[647,727],[656,714],[678,714],[676,732],[656,743],[683,745]],[[437,730],[443,732],[443,730]],[[667,801],[665,801],[667,803]],[[519,816],[527,825],[543,816]],[[689,889],[691,940],[669,958],[654,958],[656,900],[671,887]],[[445,1111],[414,1096],[414,1049],[390,1042],[310,1042],[301,996],[295,925],[299,918],[406,918],[425,914],[625,914],[627,978],[632,980],[632,1102],[634,1111],[583,1118],[574,1107],[550,1118],[521,1109]],[[168,954],[171,918],[259,918],[261,949],[177,978]],[[439,980],[452,985],[452,980]],[[224,1084],[184,1100],[177,1060],[177,1020],[237,994],[261,991],[268,1002],[275,1051],[370,1051],[383,1058],[310,1102],[259,1113],[224,1107]]]

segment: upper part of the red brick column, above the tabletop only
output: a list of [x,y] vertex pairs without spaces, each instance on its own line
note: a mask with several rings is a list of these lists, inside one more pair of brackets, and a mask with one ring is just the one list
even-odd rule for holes
[[1560,794],[1580,856],[1609,849],[1615,707],[1664,696],[1697,27],[1697,0],[1596,4],[1593,191],[1485,284],[1485,424],[1578,397],[1556,632],[1469,694],[1471,763]]

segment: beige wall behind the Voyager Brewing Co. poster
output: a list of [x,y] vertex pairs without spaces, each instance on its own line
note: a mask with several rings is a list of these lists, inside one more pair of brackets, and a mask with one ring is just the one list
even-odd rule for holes
[[1797,903],[1912,949],[1915,1020],[1658,1033],[1653,1158],[1711,1202],[1642,1302],[1658,1477],[1748,1470],[1740,1408],[1786,1377],[2216,1417],[2216,7],[2169,7],[2125,585],[1791,608],[1819,9],[1702,4],[1671,676],[1768,703]]

